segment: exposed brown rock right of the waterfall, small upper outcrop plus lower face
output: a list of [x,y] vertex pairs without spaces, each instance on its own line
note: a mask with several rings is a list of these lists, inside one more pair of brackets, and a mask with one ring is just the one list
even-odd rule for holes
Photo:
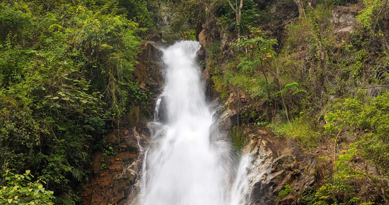
[[[239,96],[242,98],[243,95]],[[238,95],[231,93],[216,112],[222,134],[226,135],[237,126],[237,98]],[[243,150],[251,158],[247,174],[250,181],[247,193],[249,204],[297,204],[297,192],[303,193],[315,186],[317,162],[314,156],[300,150],[295,142],[276,137],[264,127],[244,126],[240,131],[246,142]],[[278,198],[285,185],[290,185],[293,192]]]

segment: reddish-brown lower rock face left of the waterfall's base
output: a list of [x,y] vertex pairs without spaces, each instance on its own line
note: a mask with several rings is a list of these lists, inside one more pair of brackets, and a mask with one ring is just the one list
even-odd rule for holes
[[[138,133],[141,131],[141,133]],[[128,195],[134,191],[131,187],[137,179],[142,166],[139,144],[144,144],[148,133],[122,128],[106,137],[106,141],[115,146],[119,153],[106,156],[99,151],[93,154],[92,177],[82,193],[83,204],[125,204]],[[118,137],[120,135],[120,139]],[[138,144],[139,142],[139,144]]]

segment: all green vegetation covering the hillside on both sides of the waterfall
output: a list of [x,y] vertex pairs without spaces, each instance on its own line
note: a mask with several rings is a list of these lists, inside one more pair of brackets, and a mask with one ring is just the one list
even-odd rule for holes
[[[357,10],[350,28],[329,20],[338,6]],[[77,203],[90,153],[115,155],[104,136],[148,98],[133,76],[142,40],[202,29],[213,88],[246,100],[237,150],[242,125],[326,146],[326,179],[301,204],[387,204],[388,16],[386,0],[2,1],[0,204]]]

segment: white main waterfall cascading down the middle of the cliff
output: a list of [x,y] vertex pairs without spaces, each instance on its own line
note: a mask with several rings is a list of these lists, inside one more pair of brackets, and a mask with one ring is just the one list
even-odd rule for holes
[[200,47],[183,41],[163,49],[165,88],[145,152],[141,204],[243,204],[245,171],[240,170],[239,181],[234,181],[237,168],[230,146],[212,127],[196,62]]

